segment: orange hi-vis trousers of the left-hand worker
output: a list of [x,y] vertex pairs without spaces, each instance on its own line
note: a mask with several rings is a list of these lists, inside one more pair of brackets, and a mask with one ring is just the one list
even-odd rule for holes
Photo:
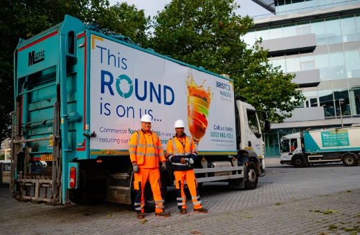
[[144,188],[147,180],[150,182],[152,194],[154,195],[155,212],[163,212],[164,200],[161,196],[159,168],[139,168],[138,173],[134,173],[135,210],[138,213],[144,213]]

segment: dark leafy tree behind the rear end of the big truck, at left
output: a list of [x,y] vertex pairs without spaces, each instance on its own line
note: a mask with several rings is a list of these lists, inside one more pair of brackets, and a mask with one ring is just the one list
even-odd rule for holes
[[100,27],[129,35],[145,45],[147,21],[143,10],[126,3],[109,7],[108,0],[1,0],[0,1],[0,142],[10,136],[14,111],[13,55],[19,39],[28,39],[64,21],[64,15],[84,23],[93,19]]

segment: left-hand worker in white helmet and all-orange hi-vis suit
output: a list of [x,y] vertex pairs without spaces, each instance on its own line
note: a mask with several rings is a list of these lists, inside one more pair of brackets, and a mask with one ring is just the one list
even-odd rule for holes
[[161,171],[166,170],[166,159],[159,135],[150,131],[152,117],[145,114],[141,117],[141,130],[136,131],[129,142],[129,154],[134,171],[134,190],[137,218],[144,218],[144,187],[149,180],[155,200],[155,215],[168,217],[169,212],[163,210],[159,160]]

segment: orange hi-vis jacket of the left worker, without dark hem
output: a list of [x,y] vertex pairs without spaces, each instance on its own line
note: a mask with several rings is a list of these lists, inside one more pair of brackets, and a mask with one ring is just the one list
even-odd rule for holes
[[159,168],[159,160],[164,162],[165,156],[159,135],[149,131],[138,130],[129,141],[130,160],[139,168]]

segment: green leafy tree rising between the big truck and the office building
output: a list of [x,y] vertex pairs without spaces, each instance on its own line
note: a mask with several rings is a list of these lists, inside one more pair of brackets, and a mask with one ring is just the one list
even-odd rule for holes
[[291,82],[294,75],[274,68],[258,44],[246,45],[242,36],[253,20],[236,15],[239,7],[233,0],[173,0],[154,17],[151,46],[163,55],[230,75],[237,95],[269,111],[273,122],[283,122],[304,97]]

